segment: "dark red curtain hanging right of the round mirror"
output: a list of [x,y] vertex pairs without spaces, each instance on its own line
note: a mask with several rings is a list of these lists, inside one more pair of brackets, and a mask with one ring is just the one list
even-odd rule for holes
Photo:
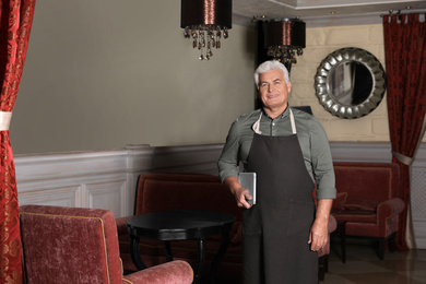
[[421,14],[383,16],[388,113],[393,162],[401,166],[397,248],[407,249],[405,228],[410,203],[411,163],[422,140],[426,113],[426,22]]

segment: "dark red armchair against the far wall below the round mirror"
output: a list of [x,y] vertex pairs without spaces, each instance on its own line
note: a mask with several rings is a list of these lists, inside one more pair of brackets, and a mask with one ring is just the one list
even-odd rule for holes
[[345,236],[378,240],[378,255],[383,259],[384,242],[389,241],[390,250],[393,249],[398,217],[404,209],[399,198],[399,165],[336,162],[334,173],[338,197],[331,211],[333,216],[340,227],[344,226]]

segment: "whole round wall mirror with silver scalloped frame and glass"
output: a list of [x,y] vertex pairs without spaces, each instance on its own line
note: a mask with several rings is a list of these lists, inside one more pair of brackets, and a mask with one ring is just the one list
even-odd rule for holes
[[380,61],[360,48],[342,48],[321,61],[315,76],[316,95],[333,116],[346,119],[368,115],[386,91]]

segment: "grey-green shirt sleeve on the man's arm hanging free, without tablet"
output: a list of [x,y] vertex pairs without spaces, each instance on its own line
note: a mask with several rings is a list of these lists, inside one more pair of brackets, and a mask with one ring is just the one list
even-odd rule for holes
[[335,199],[335,178],[330,144],[321,123],[312,117],[311,163],[317,181],[317,199]]

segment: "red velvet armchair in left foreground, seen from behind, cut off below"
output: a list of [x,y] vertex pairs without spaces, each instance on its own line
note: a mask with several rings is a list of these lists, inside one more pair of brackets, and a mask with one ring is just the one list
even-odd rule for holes
[[24,205],[20,220],[25,283],[192,283],[181,260],[123,276],[110,211]]

